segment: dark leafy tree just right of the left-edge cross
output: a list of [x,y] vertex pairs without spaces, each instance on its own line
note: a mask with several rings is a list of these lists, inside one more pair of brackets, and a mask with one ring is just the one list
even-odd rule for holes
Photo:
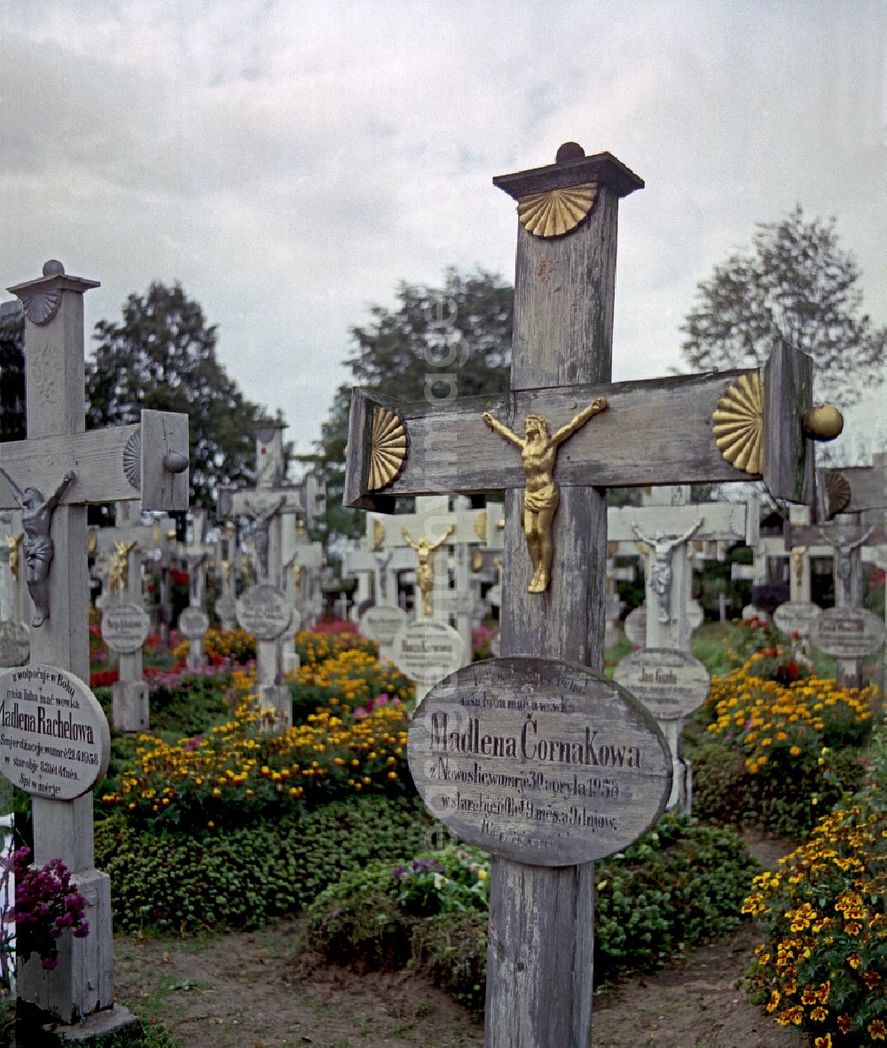
[[90,429],[137,422],[142,409],[189,416],[191,503],[210,507],[218,486],[253,482],[253,430],[267,420],[216,359],[216,337],[179,284],[151,284],[130,294],[122,323],[95,325],[86,375]]

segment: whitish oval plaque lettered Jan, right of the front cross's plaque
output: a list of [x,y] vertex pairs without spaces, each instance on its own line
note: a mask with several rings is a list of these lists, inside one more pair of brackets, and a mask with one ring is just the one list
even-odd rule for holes
[[700,706],[709,694],[709,672],[686,652],[645,648],[627,655],[613,679],[640,699],[656,720],[676,720]]

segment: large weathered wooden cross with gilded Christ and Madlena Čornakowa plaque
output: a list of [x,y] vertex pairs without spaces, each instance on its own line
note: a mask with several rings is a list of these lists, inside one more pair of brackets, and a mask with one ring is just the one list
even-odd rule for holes
[[[653,719],[616,691],[619,685],[585,669],[601,667],[603,657],[606,512],[600,489],[763,477],[776,497],[807,500],[813,457],[802,419],[810,407],[813,371],[809,357],[780,344],[762,369],[612,385],[618,203],[643,181],[610,154],[586,157],[568,144],[555,165],[494,183],[518,201],[511,391],[455,399],[430,411],[425,402],[403,403],[354,390],[344,501],[391,511],[397,496],[505,492],[504,657],[466,667],[441,685],[441,701],[452,700],[453,709],[458,703],[481,704],[476,715],[464,706],[459,733],[448,734],[447,714],[431,693],[413,721],[410,766],[417,781],[425,777],[429,783],[426,803],[432,794],[438,798],[432,811],[450,805],[443,815],[448,825],[495,856],[486,1045],[586,1046],[591,1040],[592,860],[625,847],[627,838],[635,839],[652,825],[671,789],[671,759]],[[592,408],[597,414],[589,419]],[[490,432],[488,416],[511,432],[507,439],[517,450],[503,444],[501,432]],[[549,555],[550,582],[542,588]],[[550,723],[553,733],[562,734],[544,747],[536,744],[538,736],[527,742],[526,733],[534,724],[541,730],[543,717],[555,715],[537,713],[534,703],[541,699],[528,698],[526,689],[550,695],[550,705],[562,712],[557,720],[562,729],[546,719],[546,730]],[[500,702],[524,714],[509,714]],[[598,713],[588,715],[592,719],[585,720],[583,736],[577,711],[589,708]],[[430,723],[435,715],[437,721]],[[509,719],[515,716],[531,727],[520,728]],[[455,712],[452,717],[455,723]],[[494,718],[501,726],[495,736],[499,741],[483,743],[480,721],[485,725]],[[453,783],[449,794],[429,778],[439,770],[450,785],[449,769],[459,758],[448,747],[458,745],[461,735],[475,755],[481,745],[494,748],[482,765],[474,757],[478,766],[500,769],[501,754],[514,750],[515,733],[523,733],[524,754],[532,751],[534,758],[575,755],[590,762],[605,756],[590,740],[607,737],[615,748],[606,754],[628,754],[615,740],[624,743],[635,728],[631,737],[646,740],[630,749],[636,764],[630,772],[623,769],[625,777],[608,765],[609,774],[583,778],[583,788],[597,796],[576,802],[574,827],[567,825],[567,812],[555,811],[559,802],[548,800],[550,794],[533,793],[527,807],[526,791],[540,781],[527,780],[523,766],[513,773],[490,772],[489,781],[510,793],[502,796],[494,787],[485,800],[466,785],[471,767],[460,765],[467,778]],[[567,742],[567,730],[575,730],[578,740],[571,735]],[[583,738],[590,750],[583,749]],[[447,750],[436,765],[428,758],[429,746]],[[564,762],[539,772],[544,784],[546,772],[571,782],[583,769],[587,766]],[[619,801],[612,792],[605,795],[616,779],[623,785]],[[523,795],[515,801],[517,789]],[[469,807],[490,804],[493,793],[499,814],[486,817],[473,808],[471,818],[478,824],[467,828],[469,815],[452,810],[457,793],[471,794]],[[502,814],[518,809],[520,814]],[[557,825],[545,822],[546,812],[553,818],[557,814]],[[514,830],[515,839],[501,840],[521,818],[535,822],[534,832]],[[593,832],[586,821],[594,824]]]

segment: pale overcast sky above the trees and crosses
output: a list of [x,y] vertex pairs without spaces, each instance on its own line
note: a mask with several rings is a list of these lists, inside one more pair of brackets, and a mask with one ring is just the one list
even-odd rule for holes
[[[623,201],[615,379],[679,365],[756,222],[835,216],[887,323],[883,0],[0,0],[0,278],[102,282],[87,337],[179,281],[243,392],[311,450],[348,329],[401,280],[513,279],[491,178],[565,140]],[[851,416],[887,450],[883,398]],[[870,401],[871,403],[871,401]]]

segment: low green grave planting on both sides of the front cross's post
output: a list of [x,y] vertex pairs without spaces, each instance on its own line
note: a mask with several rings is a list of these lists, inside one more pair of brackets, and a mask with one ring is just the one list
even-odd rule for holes
[[[666,815],[624,853],[600,863],[598,980],[655,967],[735,927],[756,870],[739,837]],[[308,944],[326,960],[391,966],[405,958],[473,1008],[483,1003],[486,866],[464,848],[374,864],[331,883],[310,907]]]

